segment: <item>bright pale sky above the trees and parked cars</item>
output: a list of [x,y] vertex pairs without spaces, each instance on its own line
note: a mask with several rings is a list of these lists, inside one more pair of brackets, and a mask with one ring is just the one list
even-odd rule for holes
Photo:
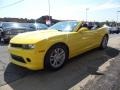
[[[55,19],[120,21],[120,0],[50,0]],[[0,0],[0,17],[39,18],[49,14],[48,0]]]

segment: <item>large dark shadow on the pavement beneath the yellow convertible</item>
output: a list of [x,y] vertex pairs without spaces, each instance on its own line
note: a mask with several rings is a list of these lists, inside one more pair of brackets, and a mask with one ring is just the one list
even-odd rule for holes
[[119,53],[119,50],[111,47],[105,50],[94,49],[72,58],[58,71],[30,71],[9,64],[4,79],[13,90],[67,90],[88,75],[104,75],[97,72],[98,68]]

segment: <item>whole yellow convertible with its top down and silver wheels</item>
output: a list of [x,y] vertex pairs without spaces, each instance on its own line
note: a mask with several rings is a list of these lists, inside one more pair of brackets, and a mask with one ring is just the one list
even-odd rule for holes
[[57,70],[70,58],[93,48],[106,48],[105,27],[78,21],[59,22],[48,30],[18,34],[10,40],[11,62],[31,69]]

